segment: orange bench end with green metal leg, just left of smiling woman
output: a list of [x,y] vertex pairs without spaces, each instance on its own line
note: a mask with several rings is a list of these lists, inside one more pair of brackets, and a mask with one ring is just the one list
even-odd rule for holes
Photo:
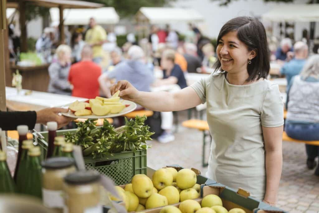
[[209,130],[209,126],[208,126],[207,121],[198,120],[198,119],[190,119],[190,120],[182,122],[182,126],[188,127],[188,128],[192,128],[192,129],[198,129],[198,130],[203,132],[202,165],[203,165],[203,167],[208,166],[208,163],[205,162],[205,145],[206,145],[205,139],[206,139],[207,136],[209,136],[210,137],[210,141],[211,141],[211,134],[210,133],[206,133],[207,130]]

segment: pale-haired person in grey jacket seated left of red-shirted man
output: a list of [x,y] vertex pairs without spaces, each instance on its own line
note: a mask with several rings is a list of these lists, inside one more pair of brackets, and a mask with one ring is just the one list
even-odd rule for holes
[[61,44],[56,49],[57,61],[49,66],[50,82],[48,92],[71,95],[71,85],[68,82],[69,70],[71,65],[71,48]]

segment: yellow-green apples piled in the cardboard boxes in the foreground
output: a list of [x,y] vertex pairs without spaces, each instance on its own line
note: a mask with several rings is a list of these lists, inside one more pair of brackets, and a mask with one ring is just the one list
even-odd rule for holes
[[[177,171],[167,167],[154,172],[152,179],[145,174],[134,175],[130,184],[115,186],[128,212],[143,211],[162,207],[160,213],[227,213],[219,196],[210,194],[203,198],[202,206],[195,200],[199,198],[200,185],[196,183],[196,173],[190,169]],[[111,196],[112,200],[117,200]],[[181,202],[179,208],[168,206]],[[203,208],[202,208],[203,207]],[[242,209],[232,209],[229,213],[245,213]]]

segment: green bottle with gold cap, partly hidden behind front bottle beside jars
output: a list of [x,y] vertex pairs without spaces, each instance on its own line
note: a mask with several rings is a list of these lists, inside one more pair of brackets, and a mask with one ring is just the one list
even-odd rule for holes
[[18,192],[21,192],[21,187],[24,184],[25,174],[27,172],[26,166],[27,166],[28,150],[32,147],[33,147],[32,140],[22,141],[22,152],[21,152],[21,158],[19,162],[19,169],[17,171],[17,181],[16,181]]

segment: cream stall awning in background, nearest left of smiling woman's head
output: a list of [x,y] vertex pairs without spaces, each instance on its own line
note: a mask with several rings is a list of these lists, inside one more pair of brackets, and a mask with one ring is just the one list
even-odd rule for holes
[[136,14],[137,21],[147,20],[150,24],[176,21],[203,21],[204,17],[193,9],[174,7],[141,7]]

